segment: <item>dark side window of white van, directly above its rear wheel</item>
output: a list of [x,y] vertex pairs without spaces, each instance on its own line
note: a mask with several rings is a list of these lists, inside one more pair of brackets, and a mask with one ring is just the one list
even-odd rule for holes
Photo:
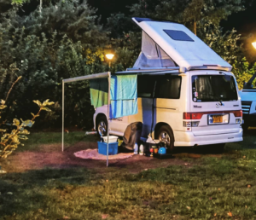
[[181,81],[181,77],[179,76],[159,76],[157,78],[154,97],[160,99],[179,99]]

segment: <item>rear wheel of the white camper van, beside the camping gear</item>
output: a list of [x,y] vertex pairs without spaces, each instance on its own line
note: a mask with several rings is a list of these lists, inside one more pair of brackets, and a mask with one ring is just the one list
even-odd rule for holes
[[160,126],[155,137],[158,138],[160,142],[166,142],[167,151],[172,152],[174,150],[174,136],[172,129],[168,125]]

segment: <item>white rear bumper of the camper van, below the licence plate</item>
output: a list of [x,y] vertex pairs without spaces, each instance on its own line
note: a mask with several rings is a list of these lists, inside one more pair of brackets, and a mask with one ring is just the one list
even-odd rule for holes
[[[175,147],[193,147],[197,145],[209,145],[217,143],[227,143],[227,142],[241,142],[242,141],[242,129],[236,133],[229,134],[218,134],[218,135],[208,135],[208,136],[195,136],[193,132],[177,131],[174,132]],[[178,138],[176,138],[176,136]]]

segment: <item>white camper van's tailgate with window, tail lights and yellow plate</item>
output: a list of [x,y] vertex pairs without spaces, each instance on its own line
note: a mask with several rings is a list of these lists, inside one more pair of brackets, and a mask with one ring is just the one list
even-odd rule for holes
[[194,136],[236,133],[241,124],[241,101],[231,73],[191,75],[190,113]]

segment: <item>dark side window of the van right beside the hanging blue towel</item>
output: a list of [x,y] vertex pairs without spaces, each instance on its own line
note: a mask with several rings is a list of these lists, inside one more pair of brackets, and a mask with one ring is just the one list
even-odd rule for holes
[[139,98],[152,98],[154,83],[154,76],[137,76],[137,96]]

